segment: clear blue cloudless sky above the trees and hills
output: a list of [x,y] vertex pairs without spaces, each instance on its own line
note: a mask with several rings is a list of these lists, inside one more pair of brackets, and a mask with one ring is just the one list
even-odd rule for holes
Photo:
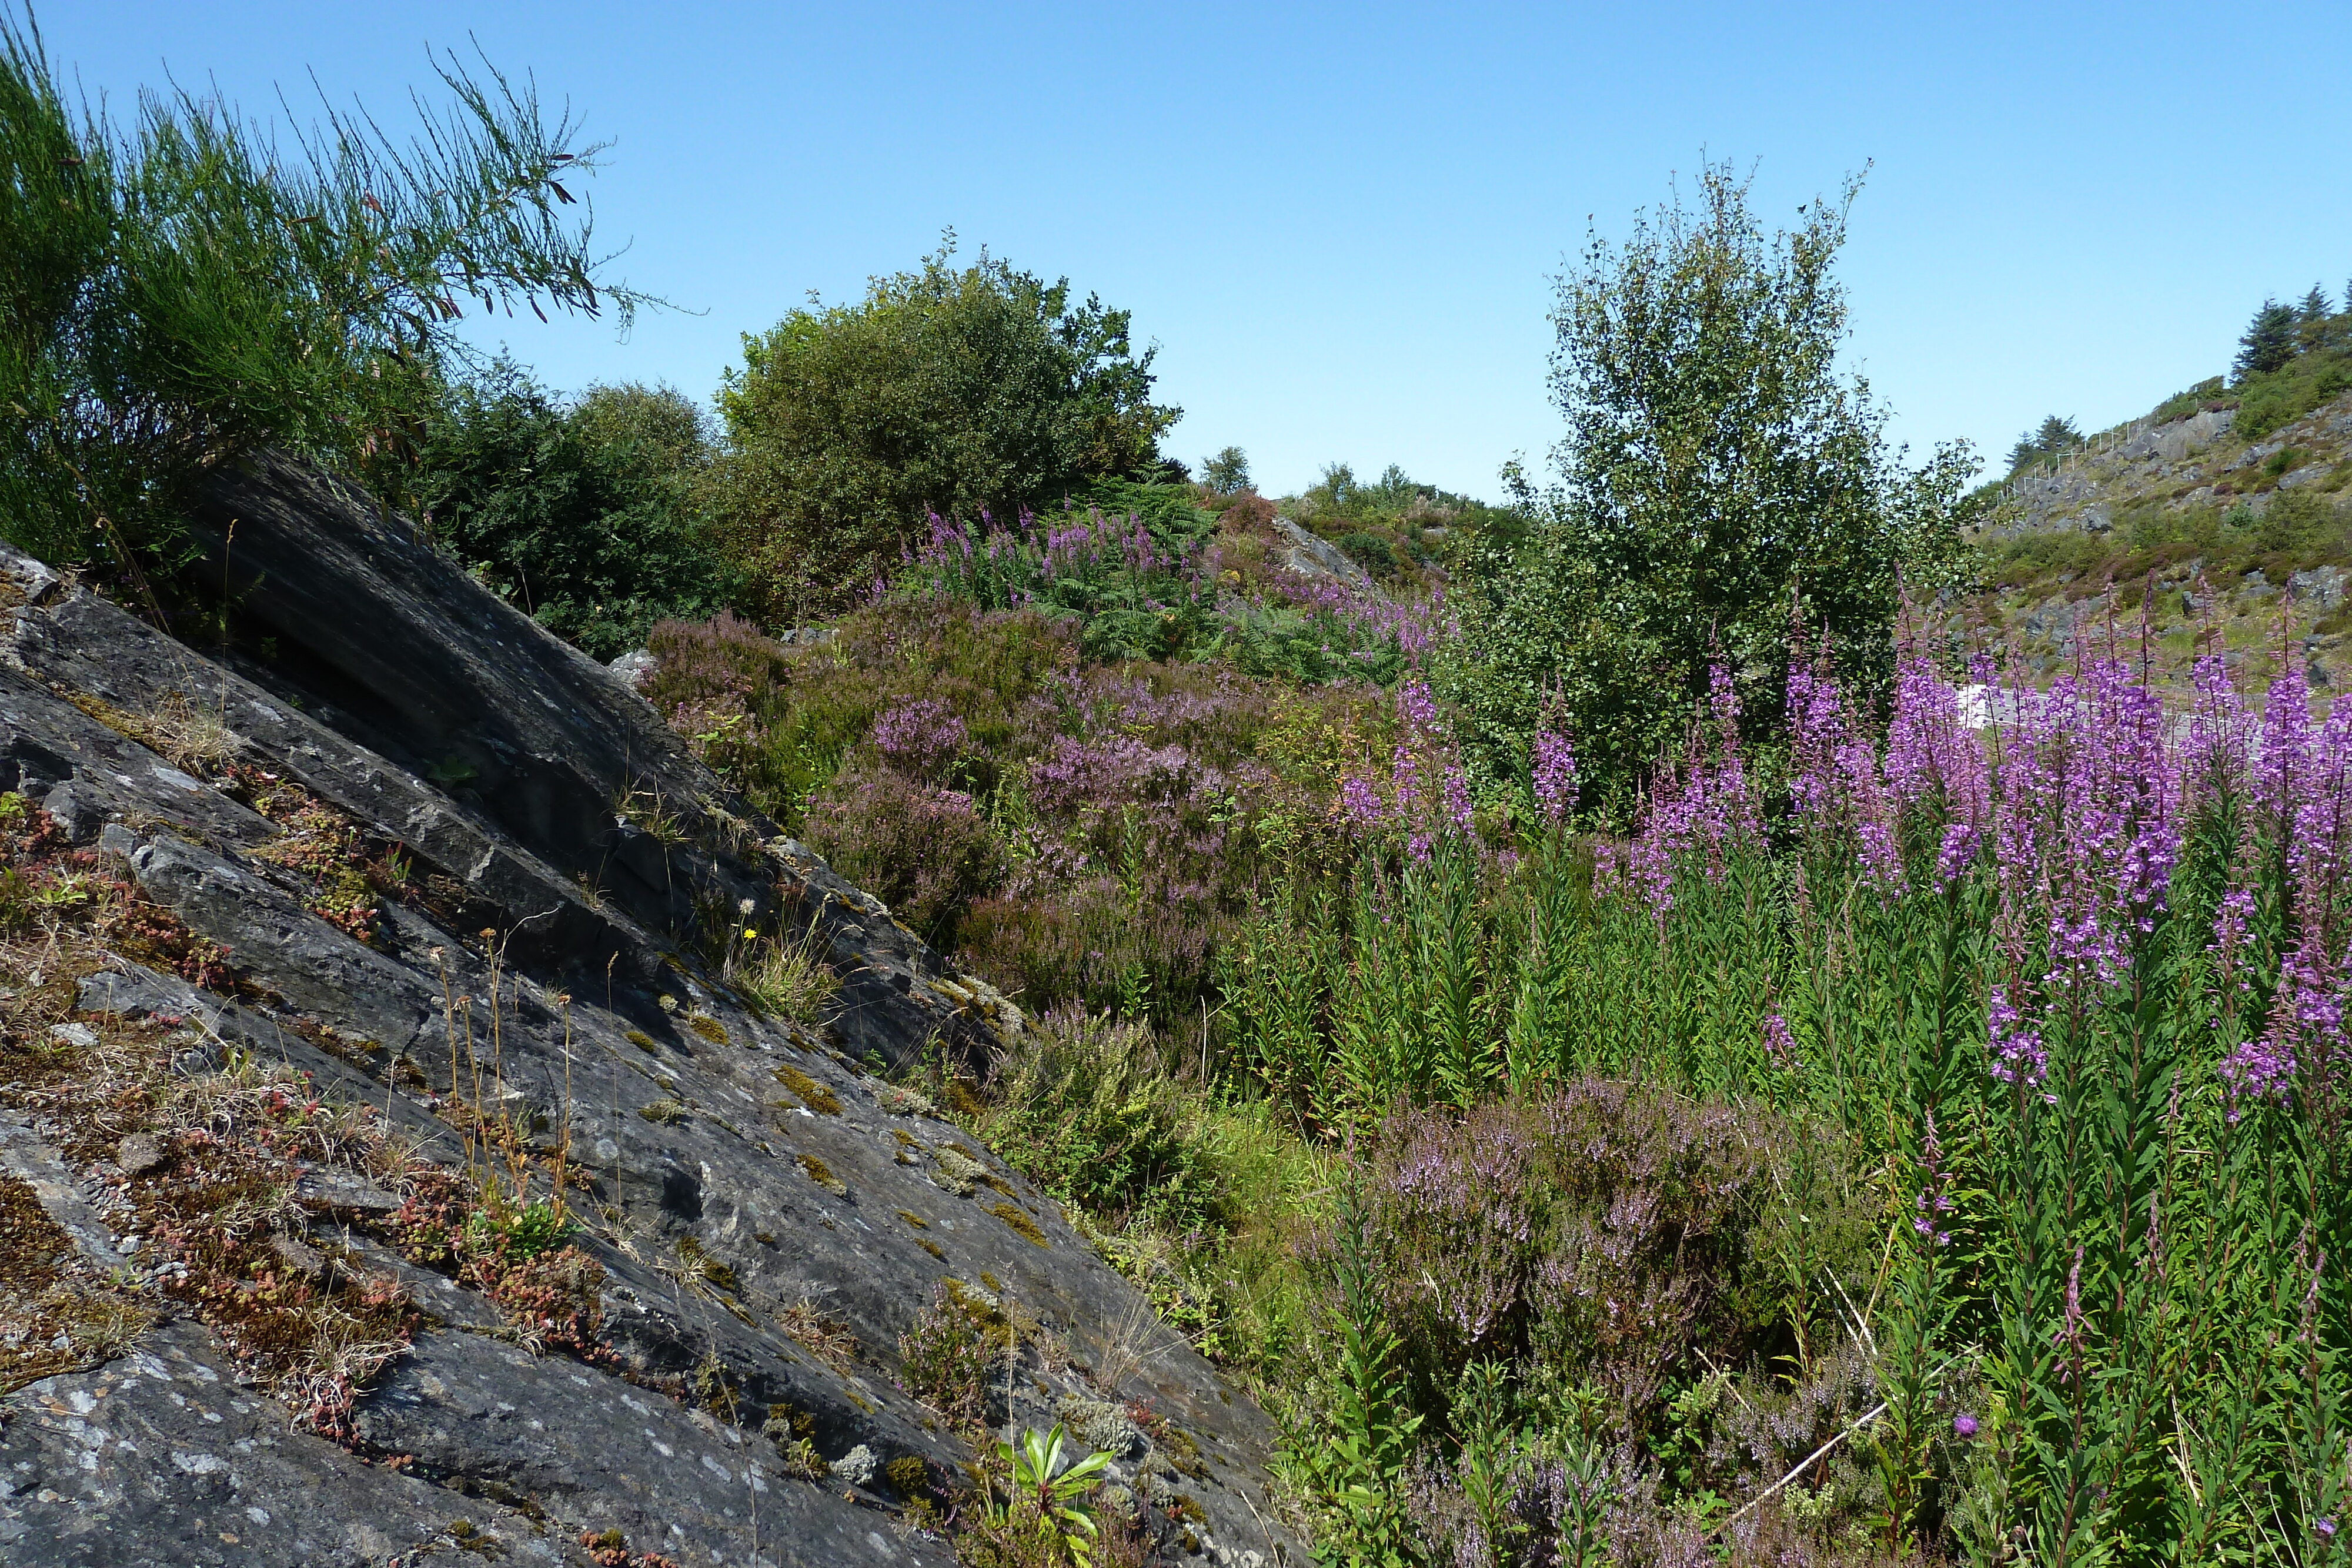
[[569,99],[616,273],[687,306],[503,341],[560,388],[717,386],[739,334],[948,226],[1134,310],[1178,456],[1491,496],[1557,440],[1550,277],[1705,148],[1795,216],[1872,162],[1853,362],[1917,449],[2098,428],[2352,275],[2352,5],[896,7],[49,2],[118,106],[308,78],[402,125],[426,45]]

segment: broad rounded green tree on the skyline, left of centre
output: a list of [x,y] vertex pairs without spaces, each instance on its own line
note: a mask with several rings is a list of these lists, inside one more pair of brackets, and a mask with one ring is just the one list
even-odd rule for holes
[[743,339],[720,390],[724,541],[771,618],[833,607],[898,559],[924,512],[974,515],[1145,477],[1181,409],[1150,402],[1129,313],[1070,301],[953,235],[856,306]]

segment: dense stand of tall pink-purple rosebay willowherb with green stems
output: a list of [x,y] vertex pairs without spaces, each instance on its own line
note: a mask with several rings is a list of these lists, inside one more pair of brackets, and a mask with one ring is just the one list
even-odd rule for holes
[[[1668,1333],[1656,1378],[1696,1389],[1677,1380],[1722,1366],[1759,1408],[1771,1356],[1802,1389],[1851,1340],[1870,1406],[1766,1497],[1802,1450],[1755,1446],[1677,1483],[1670,1455],[1712,1441],[1705,1401],[1677,1394],[1621,1427],[1661,1507],[1708,1519],[1708,1497],[1748,1493],[1740,1535],[1835,1490],[1893,1556],[2338,1561],[2352,703],[2317,722],[2288,672],[2256,712],[2218,658],[2187,712],[2119,658],[2049,691],[1976,677],[1905,658],[1875,729],[1799,656],[1785,820],[1719,679],[1639,830],[1590,856],[1559,835],[1517,867],[1468,830],[1416,844],[1367,780],[1352,804],[1383,813],[1385,858],[1367,853],[1329,912],[1244,933],[1242,957],[1275,940],[1305,957],[1235,964],[1235,1039],[1310,1131],[1385,1117],[1383,1159],[1406,1159],[1418,1117],[1454,1128],[1430,1145],[1437,1211],[1399,1232],[1428,1234],[1392,1260],[1397,1324],[1432,1291],[1479,1312],[1529,1300],[1510,1281],[1550,1225],[1512,1208],[1515,1161],[1543,1140],[1503,1138],[1494,1110],[1397,1121],[1397,1100],[1642,1074],[1750,1124],[1778,1107],[1806,1128],[1783,1159],[1853,1173],[1879,1244],[1820,1237],[1818,1204],[1776,1178],[1755,1246],[1705,1272],[1762,1312],[1752,1338]],[[1552,773],[1538,802],[1566,790]],[[1461,903],[1439,891],[1449,865],[1472,867],[1454,872]],[[1456,1037],[1444,940],[1461,933],[1475,1027]],[[1444,1321],[1494,1333],[1479,1312]],[[1505,1342],[1503,1363],[1534,1392],[1606,1340],[1588,1331],[1562,1338],[1581,1347],[1566,1361]],[[1496,1352],[1472,1338],[1454,1356]],[[1446,1418],[1446,1375],[1414,1389]]]

